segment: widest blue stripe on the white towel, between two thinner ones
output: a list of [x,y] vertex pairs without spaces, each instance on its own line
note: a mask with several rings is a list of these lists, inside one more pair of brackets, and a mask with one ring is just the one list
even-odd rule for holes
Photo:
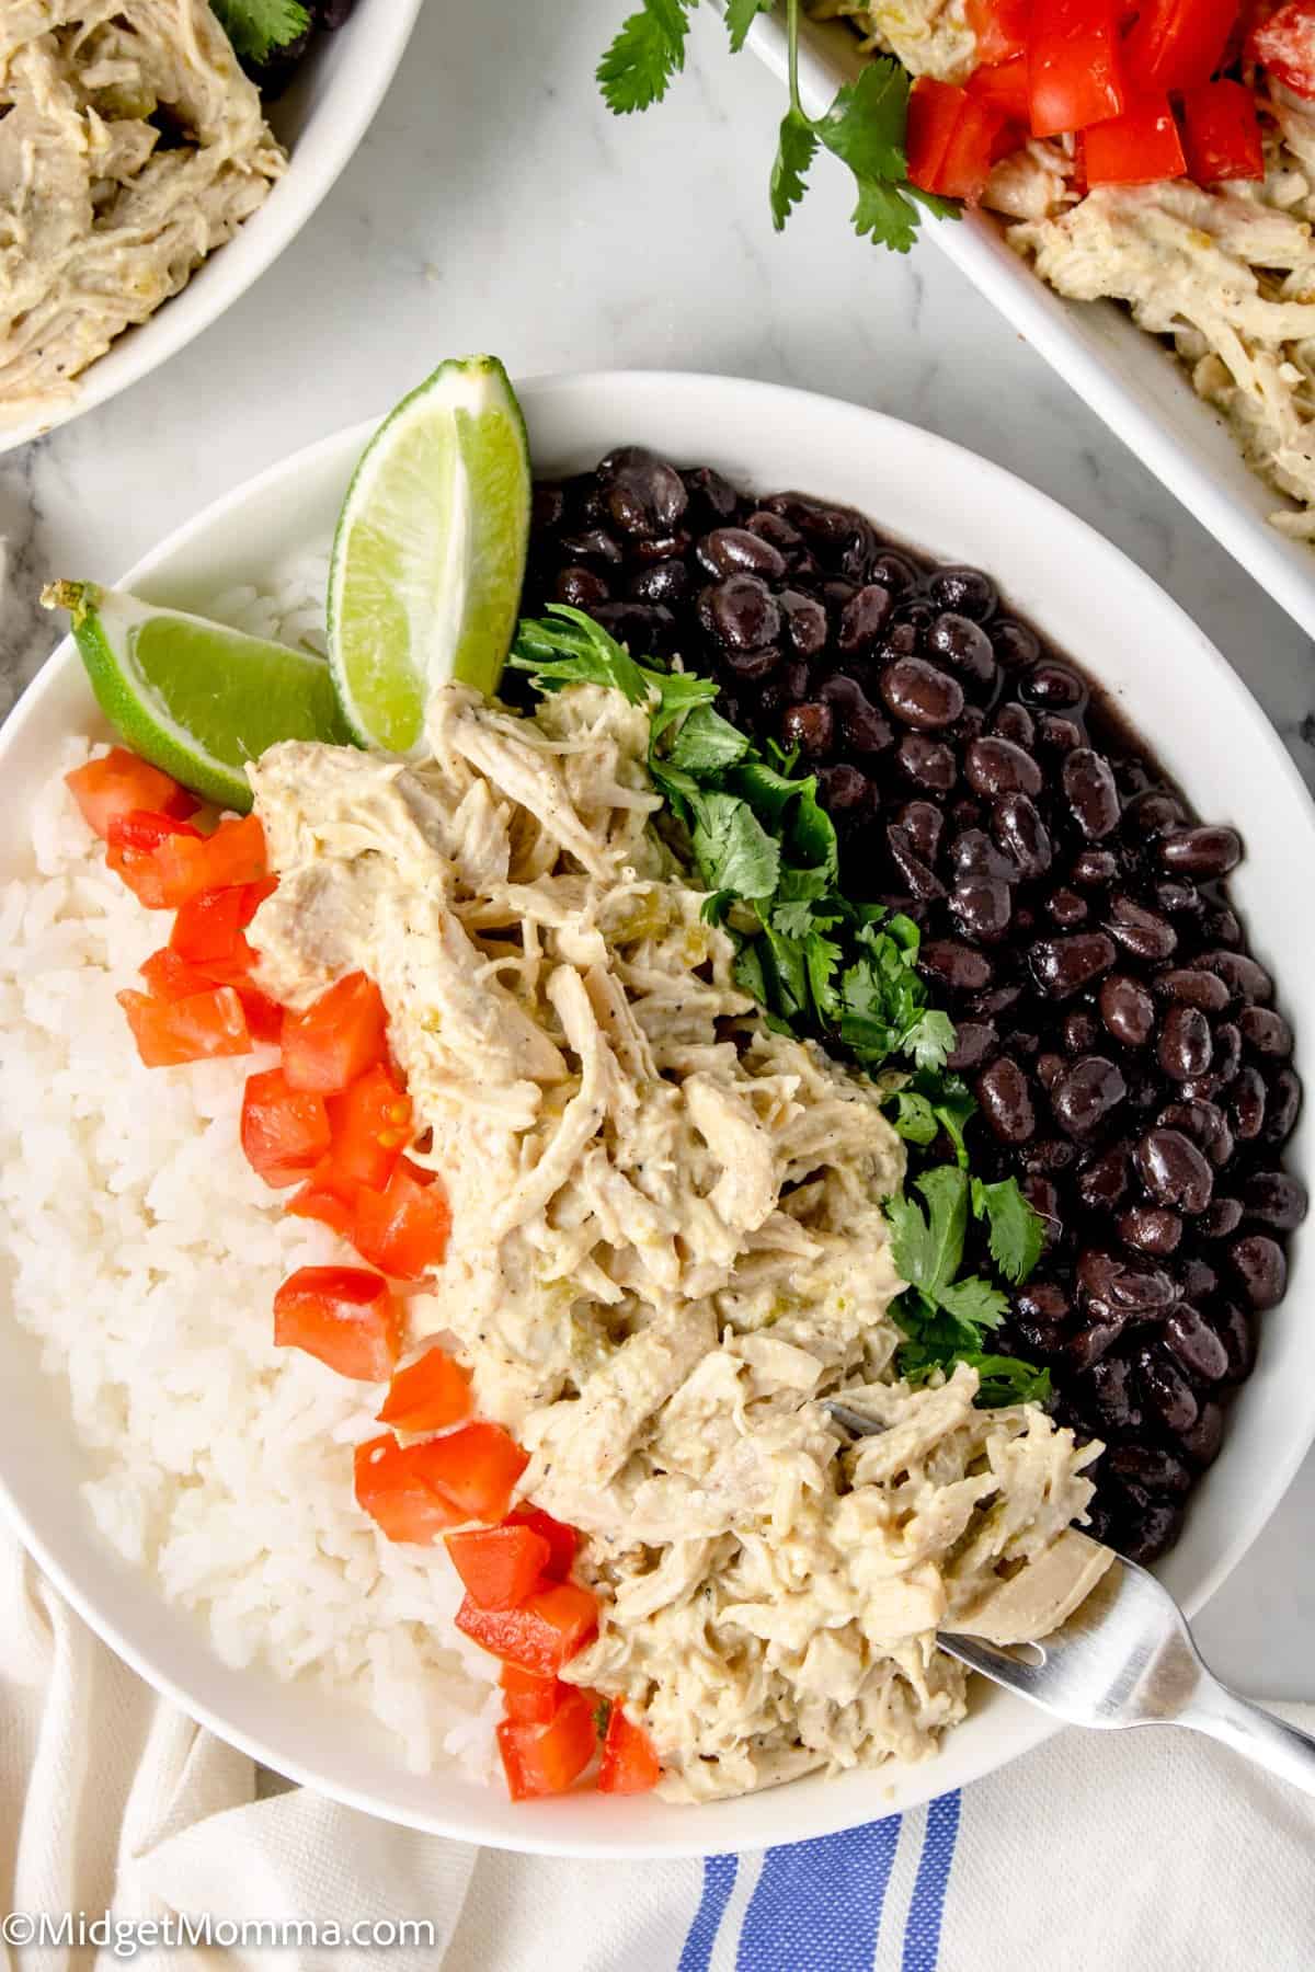
[[899,1816],[820,1842],[767,1850],[743,1931],[739,1972],[871,1972]]

